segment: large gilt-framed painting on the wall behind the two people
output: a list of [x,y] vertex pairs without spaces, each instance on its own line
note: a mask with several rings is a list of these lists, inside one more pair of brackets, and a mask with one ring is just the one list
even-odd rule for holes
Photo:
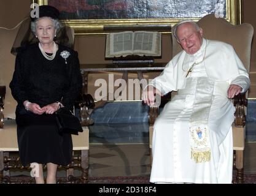
[[215,13],[236,25],[241,22],[241,0],[33,0],[60,10],[61,20],[77,35],[111,31],[162,31],[183,19],[198,21]]

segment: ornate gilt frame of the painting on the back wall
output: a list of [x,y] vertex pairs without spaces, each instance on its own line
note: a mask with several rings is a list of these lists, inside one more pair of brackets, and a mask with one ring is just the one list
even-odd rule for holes
[[[39,6],[47,5],[48,0],[32,0]],[[226,0],[225,19],[233,25],[238,25],[242,21],[241,0]],[[106,34],[108,32],[117,31],[160,31],[171,32],[171,26],[178,21],[190,19],[194,21],[200,18],[142,18],[142,19],[79,19],[79,20],[61,20],[64,24],[71,26],[76,36],[90,34]]]

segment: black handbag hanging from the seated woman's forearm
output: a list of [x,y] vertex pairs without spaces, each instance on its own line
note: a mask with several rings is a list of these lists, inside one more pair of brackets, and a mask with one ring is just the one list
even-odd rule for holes
[[70,110],[60,108],[55,115],[60,135],[63,133],[78,135],[78,132],[83,132],[79,119]]

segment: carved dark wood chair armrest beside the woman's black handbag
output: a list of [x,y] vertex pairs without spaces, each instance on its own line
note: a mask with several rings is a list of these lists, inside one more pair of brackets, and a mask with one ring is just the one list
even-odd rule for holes
[[90,94],[80,94],[75,102],[75,108],[79,108],[79,115],[82,126],[88,126],[94,123],[90,118],[89,108],[95,107],[94,99]]

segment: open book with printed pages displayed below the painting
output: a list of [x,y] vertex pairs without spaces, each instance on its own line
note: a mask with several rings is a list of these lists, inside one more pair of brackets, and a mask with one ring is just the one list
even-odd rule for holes
[[106,37],[106,58],[128,55],[161,56],[161,34],[153,31],[111,32]]

